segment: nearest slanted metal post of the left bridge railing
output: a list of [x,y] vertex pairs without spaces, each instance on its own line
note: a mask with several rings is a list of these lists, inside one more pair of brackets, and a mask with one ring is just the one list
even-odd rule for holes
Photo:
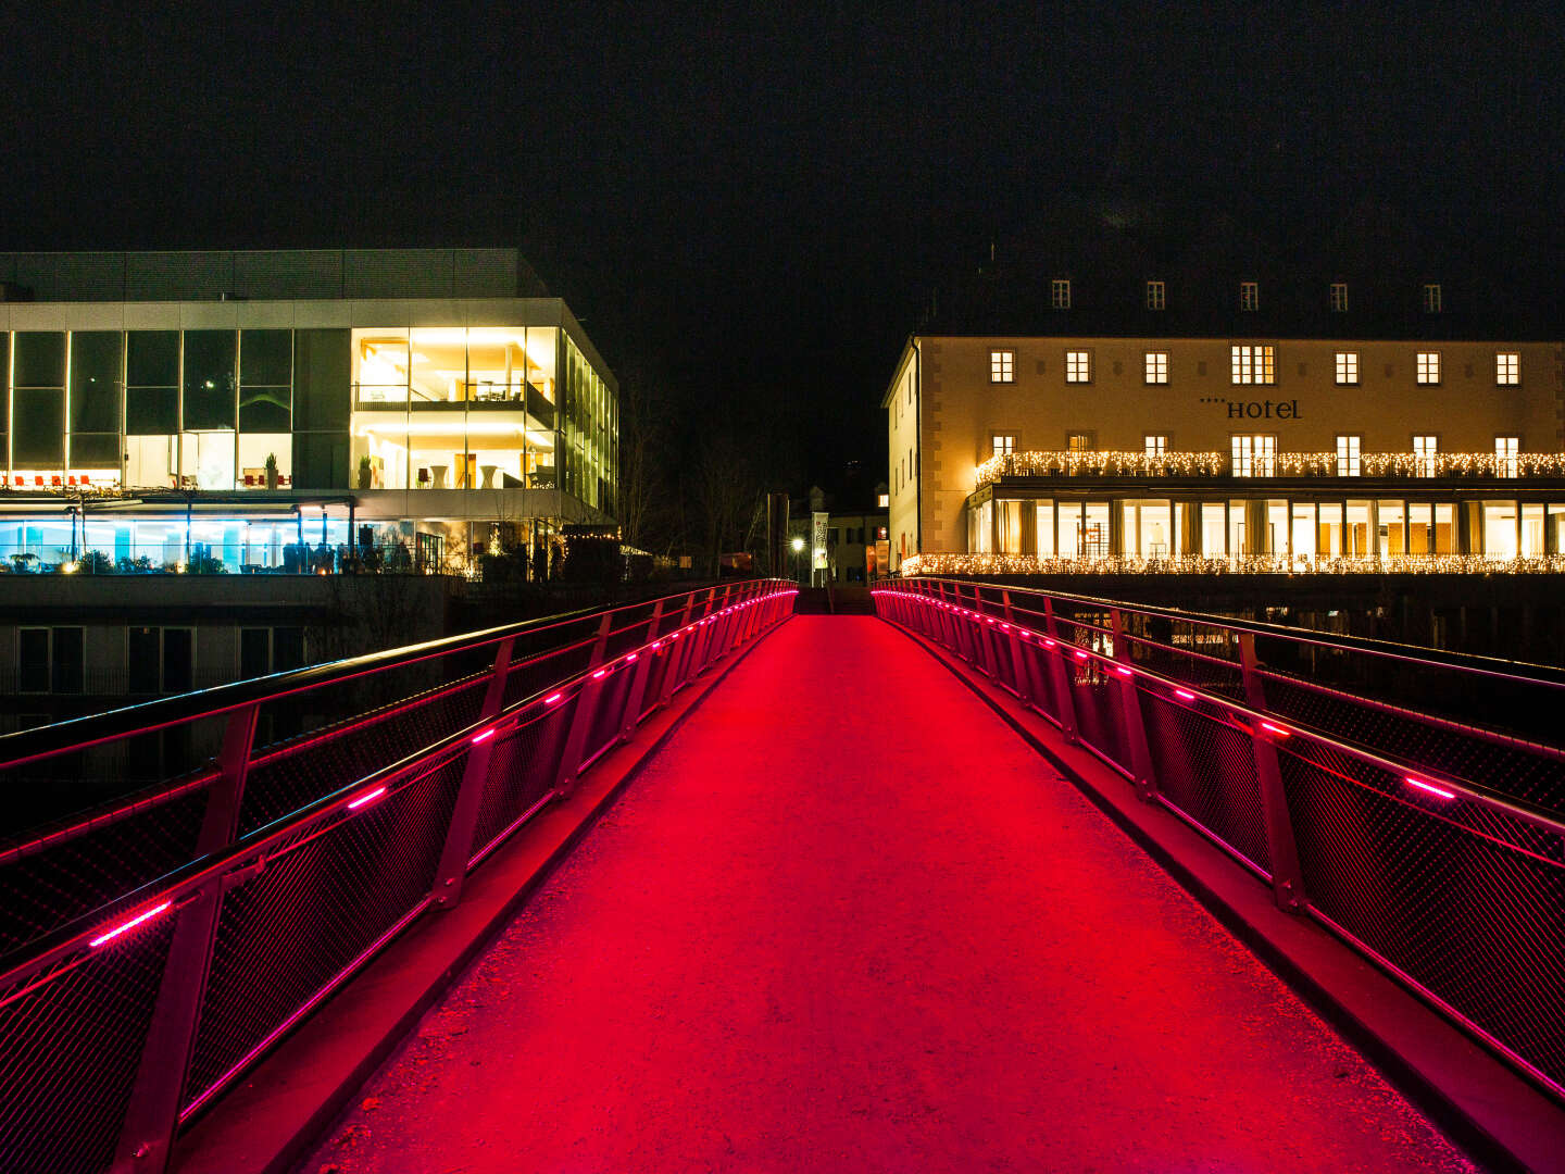
[[[218,778],[207,792],[196,856],[207,856],[233,844],[258,712],[260,703],[252,701],[228,715],[218,753]],[[110,1168],[114,1174],[161,1174],[167,1169],[174,1132],[180,1124],[180,1096],[207,997],[207,975],[211,972],[218,919],[222,914],[222,878],[213,877],[178,911],[163,964],[163,980],[158,983],[158,1000],[141,1047],[136,1083],[130,1091]]]

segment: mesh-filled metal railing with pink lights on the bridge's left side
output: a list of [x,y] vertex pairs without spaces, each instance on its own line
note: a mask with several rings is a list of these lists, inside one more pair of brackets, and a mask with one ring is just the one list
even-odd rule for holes
[[164,1169],[182,1121],[795,593],[709,587],[0,739],[11,786],[163,773],[0,847],[0,1169]]

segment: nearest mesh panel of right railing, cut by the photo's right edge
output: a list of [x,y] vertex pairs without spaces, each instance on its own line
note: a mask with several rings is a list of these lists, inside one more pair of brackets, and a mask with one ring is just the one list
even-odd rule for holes
[[[1318,744],[1279,754],[1311,906],[1565,1083],[1565,862]],[[1535,845],[1542,847],[1538,841]]]

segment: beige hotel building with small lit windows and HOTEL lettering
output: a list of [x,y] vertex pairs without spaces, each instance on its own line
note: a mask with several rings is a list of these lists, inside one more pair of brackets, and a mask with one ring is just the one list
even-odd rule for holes
[[1565,344],[1535,324],[1432,280],[1373,315],[1347,280],[1180,313],[1155,277],[1044,288],[1033,332],[903,348],[894,570],[1565,568]]

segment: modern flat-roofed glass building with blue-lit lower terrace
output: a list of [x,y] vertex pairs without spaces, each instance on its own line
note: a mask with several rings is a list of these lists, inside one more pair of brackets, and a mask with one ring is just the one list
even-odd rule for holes
[[612,524],[618,427],[515,249],[0,254],[14,570],[463,571]]

